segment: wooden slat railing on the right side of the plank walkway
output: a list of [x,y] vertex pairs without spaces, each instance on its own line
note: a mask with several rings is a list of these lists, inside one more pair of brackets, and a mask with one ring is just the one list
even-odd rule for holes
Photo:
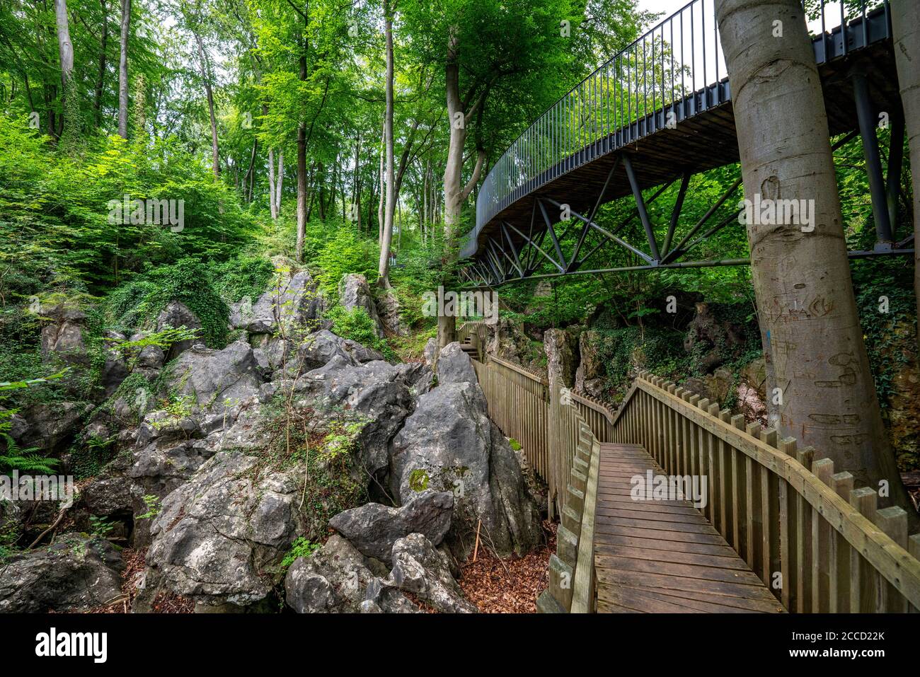
[[665,473],[706,476],[709,522],[788,611],[920,608],[920,534],[879,509],[829,458],[776,430],[642,373],[620,407],[615,442],[642,444]]

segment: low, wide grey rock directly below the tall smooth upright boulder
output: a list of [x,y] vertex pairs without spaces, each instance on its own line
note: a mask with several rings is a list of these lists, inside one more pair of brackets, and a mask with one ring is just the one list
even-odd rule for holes
[[339,512],[329,526],[351,541],[363,555],[390,562],[393,544],[408,534],[424,534],[439,545],[451,527],[454,494],[425,491],[402,508],[366,503]]

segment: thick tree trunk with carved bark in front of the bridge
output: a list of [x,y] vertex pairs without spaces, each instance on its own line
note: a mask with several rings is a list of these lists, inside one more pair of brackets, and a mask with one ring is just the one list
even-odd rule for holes
[[[818,458],[832,458],[838,472],[848,470],[861,486],[878,489],[887,480],[891,499],[909,508],[859,327],[821,78],[801,5],[716,0],[716,16],[745,197],[814,205],[811,232],[798,223],[759,223],[771,219],[747,224],[773,375],[767,394],[782,401],[777,427],[800,446],[813,446]],[[777,19],[778,38],[772,37]]]

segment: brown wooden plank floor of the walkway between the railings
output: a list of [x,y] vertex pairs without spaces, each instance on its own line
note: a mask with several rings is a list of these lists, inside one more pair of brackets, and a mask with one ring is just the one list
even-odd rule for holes
[[601,444],[594,532],[597,611],[783,613],[764,582],[689,500],[633,500],[630,478],[664,474],[638,444]]

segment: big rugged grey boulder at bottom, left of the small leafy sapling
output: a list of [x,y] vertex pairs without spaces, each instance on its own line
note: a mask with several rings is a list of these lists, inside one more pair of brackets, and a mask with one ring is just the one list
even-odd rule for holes
[[202,605],[265,600],[297,534],[304,469],[272,471],[259,458],[218,453],[170,493],[150,527],[148,585]]

